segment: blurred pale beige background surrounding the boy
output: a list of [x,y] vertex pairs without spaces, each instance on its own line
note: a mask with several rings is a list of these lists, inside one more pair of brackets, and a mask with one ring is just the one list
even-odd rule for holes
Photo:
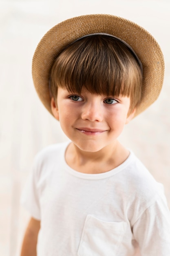
[[120,140],[165,187],[170,207],[170,1],[4,0],[0,1],[0,255],[18,256],[29,214],[20,194],[34,155],[67,140],[35,93],[33,52],[58,22],[90,13],[128,18],[155,36],[165,56],[159,99],[126,126]]

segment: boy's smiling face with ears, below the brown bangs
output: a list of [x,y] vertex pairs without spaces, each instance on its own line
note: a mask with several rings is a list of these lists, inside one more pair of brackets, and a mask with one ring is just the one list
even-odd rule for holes
[[58,88],[57,102],[51,100],[53,115],[60,121],[66,136],[79,149],[97,152],[116,142],[128,115],[130,98],[91,94],[85,88],[81,94]]

